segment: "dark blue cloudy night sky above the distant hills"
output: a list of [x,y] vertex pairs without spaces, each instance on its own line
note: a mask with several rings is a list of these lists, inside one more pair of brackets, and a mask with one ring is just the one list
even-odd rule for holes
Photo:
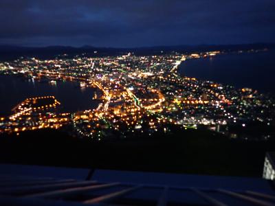
[[0,45],[275,42],[275,0],[0,0]]

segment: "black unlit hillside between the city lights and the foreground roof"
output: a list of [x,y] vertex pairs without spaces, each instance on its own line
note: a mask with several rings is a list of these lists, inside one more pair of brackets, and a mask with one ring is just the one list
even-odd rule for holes
[[77,168],[261,176],[274,140],[236,141],[206,130],[92,142],[56,130],[0,137],[0,162]]

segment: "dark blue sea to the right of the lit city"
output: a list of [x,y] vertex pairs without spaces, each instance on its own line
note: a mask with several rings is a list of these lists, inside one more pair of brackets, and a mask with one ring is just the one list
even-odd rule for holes
[[274,95],[275,50],[190,59],[182,62],[179,73],[236,88],[250,87]]

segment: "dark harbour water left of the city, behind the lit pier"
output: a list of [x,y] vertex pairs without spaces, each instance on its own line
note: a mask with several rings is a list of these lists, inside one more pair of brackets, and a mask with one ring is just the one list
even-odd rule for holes
[[7,115],[11,109],[26,98],[54,95],[61,102],[59,111],[76,112],[98,106],[92,100],[94,88],[80,88],[76,82],[33,82],[17,76],[0,75],[0,115]]

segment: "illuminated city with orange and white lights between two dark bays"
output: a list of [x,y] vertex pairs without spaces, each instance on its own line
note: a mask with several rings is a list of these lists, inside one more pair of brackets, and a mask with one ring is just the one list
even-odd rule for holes
[[[96,52],[94,52],[96,54]],[[138,137],[173,133],[173,128],[209,130],[232,138],[228,131],[251,122],[274,124],[275,102],[254,89],[236,89],[216,82],[180,76],[179,65],[192,58],[214,58],[224,52],[163,53],[137,56],[89,57],[67,55],[51,60],[19,58],[0,63],[1,73],[32,81],[78,82],[79,87],[97,88],[91,100],[95,109],[63,113],[54,96],[30,97],[1,117],[0,133],[41,128],[63,128],[83,138]],[[269,139],[262,135],[259,139]],[[247,139],[247,137],[241,137]]]

